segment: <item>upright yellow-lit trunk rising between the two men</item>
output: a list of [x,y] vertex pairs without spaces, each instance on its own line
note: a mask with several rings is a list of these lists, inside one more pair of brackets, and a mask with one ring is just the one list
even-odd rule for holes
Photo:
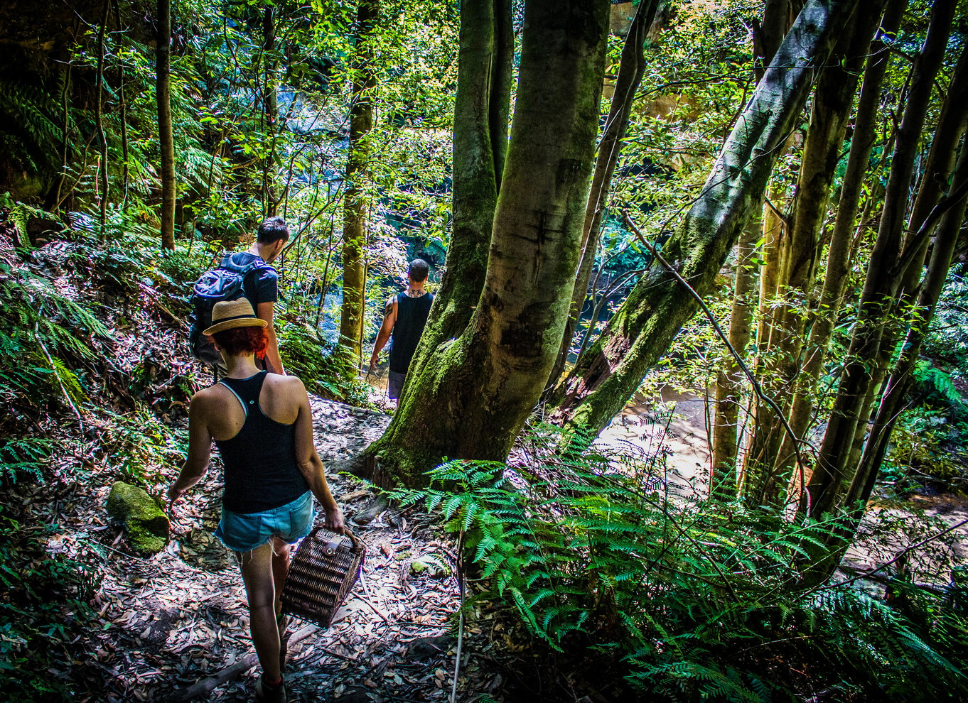
[[370,161],[373,94],[377,87],[371,35],[377,25],[378,0],[360,0],[356,12],[356,47],[352,63],[353,93],[349,103],[347,190],[343,205],[343,307],[340,345],[354,366],[362,355],[366,308],[366,218],[370,203],[365,179]]

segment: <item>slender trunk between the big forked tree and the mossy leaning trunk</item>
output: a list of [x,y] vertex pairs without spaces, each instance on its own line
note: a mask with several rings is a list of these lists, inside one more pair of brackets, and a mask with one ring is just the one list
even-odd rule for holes
[[615,81],[615,93],[612,96],[612,106],[609,108],[608,119],[598,142],[598,159],[595,161],[594,175],[591,177],[589,204],[585,209],[585,228],[582,232],[582,259],[578,265],[575,277],[575,290],[571,295],[571,308],[568,319],[564,324],[564,334],[558,359],[552,367],[547,388],[556,386],[568,360],[571,349],[571,338],[575,336],[578,319],[585,307],[588,297],[591,268],[598,249],[598,234],[601,231],[602,219],[605,216],[605,204],[608,201],[609,190],[612,188],[612,177],[621,154],[621,141],[628,129],[628,119],[632,112],[635,94],[642,82],[642,74],[646,70],[643,55],[643,44],[649,34],[659,0],[643,0],[635,11],[632,23],[625,36],[625,44],[621,49],[619,75]]

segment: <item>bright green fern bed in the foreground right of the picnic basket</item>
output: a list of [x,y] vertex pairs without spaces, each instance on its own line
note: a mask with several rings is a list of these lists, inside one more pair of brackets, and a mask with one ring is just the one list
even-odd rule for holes
[[618,657],[653,699],[780,700],[819,683],[835,700],[968,691],[949,630],[856,586],[797,586],[834,522],[667,500],[596,454],[513,470],[452,461],[430,475],[439,487],[393,495],[465,535],[474,600],[503,603],[553,649]]

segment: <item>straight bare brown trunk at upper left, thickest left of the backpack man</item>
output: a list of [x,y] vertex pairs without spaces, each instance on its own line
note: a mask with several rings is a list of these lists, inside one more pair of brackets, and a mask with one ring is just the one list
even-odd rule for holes
[[162,249],[175,248],[175,144],[171,133],[171,0],[158,0],[158,55],[156,63],[158,139],[162,164]]

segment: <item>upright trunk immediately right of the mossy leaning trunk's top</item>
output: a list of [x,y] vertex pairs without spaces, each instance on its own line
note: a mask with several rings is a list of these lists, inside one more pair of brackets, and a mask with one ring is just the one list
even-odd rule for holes
[[[771,390],[774,397],[792,395],[791,389],[800,371],[805,315],[799,310],[809,308],[807,298],[814,289],[821,229],[827,216],[834,171],[857,91],[858,75],[879,16],[880,7],[875,5],[864,8],[862,15],[853,18],[834,52],[841,60],[831,62],[824,70],[814,91],[797,184],[797,207],[790,237],[784,242],[780,257],[779,287],[783,302],[776,308],[777,324],[773,328],[776,338]],[[787,405],[778,404],[781,408]],[[785,467],[783,471],[775,470],[784,429],[772,408],[759,402],[756,432],[744,469],[743,499],[751,505],[775,503],[786,490],[789,473]]]

